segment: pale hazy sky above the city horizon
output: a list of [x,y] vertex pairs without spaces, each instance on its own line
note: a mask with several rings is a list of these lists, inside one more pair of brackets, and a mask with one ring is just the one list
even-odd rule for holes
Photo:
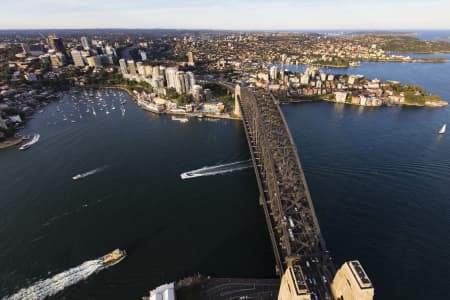
[[450,0],[0,0],[0,29],[448,30],[449,16]]

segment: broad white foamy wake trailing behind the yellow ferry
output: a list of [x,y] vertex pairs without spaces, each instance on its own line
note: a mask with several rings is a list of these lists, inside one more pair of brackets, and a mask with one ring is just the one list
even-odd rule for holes
[[33,299],[40,300],[53,296],[65,288],[87,279],[94,273],[104,269],[101,259],[89,260],[78,267],[69,269],[55,276],[40,280],[28,288],[19,290],[12,296],[6,296],[3,300]]

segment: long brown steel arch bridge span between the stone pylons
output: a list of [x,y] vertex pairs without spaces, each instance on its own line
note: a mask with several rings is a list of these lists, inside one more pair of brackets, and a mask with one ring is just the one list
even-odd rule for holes
[[335,265],[278,101],[268,91],[243,87],[237,97],[277,271],[282,276],[292,266],[301,293],[310,293],[311,299],[332,299]]

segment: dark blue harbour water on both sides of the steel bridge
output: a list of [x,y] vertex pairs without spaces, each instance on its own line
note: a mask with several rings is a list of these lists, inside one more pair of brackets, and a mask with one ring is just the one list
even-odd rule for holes
[[[450,100],[450,64],[363,63],[348,72],[417,83]],[[102,93],[108,107],[129,100]],[[115,248],[128,257],[54,299],[138,299],[197,272],[275,276],[253,171],[180,178],[248,159],[240,122],[180,123],[130,100],[124,115],[117,106],[93,116],[72,104],[83,96],[71,97],[27,124],[24,133],[41,134],[37,144],[0,152],[0,298]],[[450,123],[449,108],[282,109],[336,261],[360,259],[377,299],[446,299],[450,139],[437,131]]]

